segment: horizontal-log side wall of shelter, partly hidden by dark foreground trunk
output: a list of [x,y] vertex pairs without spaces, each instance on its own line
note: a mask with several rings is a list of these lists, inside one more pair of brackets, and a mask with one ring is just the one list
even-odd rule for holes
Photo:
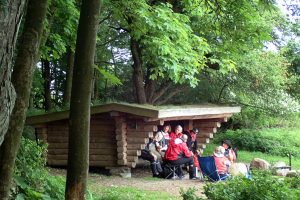
[[[50,166],[67,166],[68,160],[68,120],[47,124],[48,157]],[[117,142],[115,122],[108,114],[97,114],[91,117],[89,164],[94,167],[117,165]],[[45,128],[37,129],[38,135]]]

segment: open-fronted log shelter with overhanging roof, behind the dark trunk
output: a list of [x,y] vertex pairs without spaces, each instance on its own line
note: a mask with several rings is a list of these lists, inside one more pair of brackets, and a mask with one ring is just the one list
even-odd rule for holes
[[[238,106],[181,105],[149,106],[108,103],[91,107],[90,166],[134,168],[149,137],[163,124],[180,124],[184,130],[196,127],[202,148],[214,137]],[[68,157],[69,111],[32,116],[26,124],[35,128],[39,139],[48,143],[47,163],[66,166]]]

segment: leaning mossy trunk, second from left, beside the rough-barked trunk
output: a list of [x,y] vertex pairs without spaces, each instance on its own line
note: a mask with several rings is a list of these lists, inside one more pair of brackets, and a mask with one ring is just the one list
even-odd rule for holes
[[20,41],[12,83],[17,98],[11,114],[9,129],[0,148],[0,199],[8,199],[16,155],[29,104],[32,76],[39,55],[47,0],[29,0],[24,32]]

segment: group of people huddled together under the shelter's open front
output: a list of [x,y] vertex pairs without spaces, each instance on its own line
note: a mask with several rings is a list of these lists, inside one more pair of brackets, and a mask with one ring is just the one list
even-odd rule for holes
[[[170,125],[163,126],[153,140],[149,141],[141,155],[143,159],[150,161],[153,176],[159,177],[162,174],[161,162],[164,162],[164,164],[188,166],[189,178],[196,179],[194,158],[199,153],[196,140],[198,132],[196,128],[183,132],[180,125],[177,125],[172,132]],[[181,167],[179,167],[177,175],[179,178],[183,178]]]

